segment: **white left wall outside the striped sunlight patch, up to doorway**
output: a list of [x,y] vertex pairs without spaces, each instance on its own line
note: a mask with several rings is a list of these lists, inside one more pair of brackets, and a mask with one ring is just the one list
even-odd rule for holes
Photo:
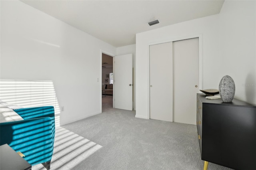
[[60,125],[100,113],[101,50],[116,48],[20,1],[0,3],[0,78],[52,81]]

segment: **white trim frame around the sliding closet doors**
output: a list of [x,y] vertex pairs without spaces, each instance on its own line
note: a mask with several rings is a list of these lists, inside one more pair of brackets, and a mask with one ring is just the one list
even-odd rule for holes
[[147,118],[146,119],[150,119],[150,67],[149,67],[149,46],[150,45],[156,45],[156,44],[160,44],[160,43],[167,43],[167,42],[176,42],[176,41],[181,41],[181,40],[187,40],[187,39],[192,39],[192,38],[198,38],[198,52],[199,52],[199,56],[198,56],[198,66],[199,66],[199,85],[198,85],[198,89],[202,89],[202,54],[203,54],[203,50],[202,50],[202,34],[198,34],[198,35],[193,35],[193,36],[184,36],[184,37],[178,37],[178,38],[171,38],[171,39],[167,39],[167,40],[160,40],[160,41],[156,41],[156,42],[151,42],[148,43],[148,53],[147,53],[147,65],[148,65],[148,82],[147,82],[147,96],[148,96],[148,109],[147,109]]

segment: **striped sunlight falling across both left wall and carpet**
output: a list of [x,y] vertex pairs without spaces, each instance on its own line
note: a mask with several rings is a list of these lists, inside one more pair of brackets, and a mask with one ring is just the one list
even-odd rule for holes
[[[51,170],[69,170],[102,148],[74,132],[60,127],[60,106],[52,81],[0,80],[0,100],[24,108],[53,106],[55,111],[55,140]],[[24,116],[24,115],[23,115]],[[26,116],[33,117],[31,113]],[[33,170],[45,170],[42,164]]]

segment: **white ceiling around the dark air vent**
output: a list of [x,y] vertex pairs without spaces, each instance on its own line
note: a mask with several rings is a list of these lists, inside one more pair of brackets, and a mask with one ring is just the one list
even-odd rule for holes
[[[21,0],[114,47],[136,33],[218,14],[224,0]],[[148,26],[148,22],[159,24]]]

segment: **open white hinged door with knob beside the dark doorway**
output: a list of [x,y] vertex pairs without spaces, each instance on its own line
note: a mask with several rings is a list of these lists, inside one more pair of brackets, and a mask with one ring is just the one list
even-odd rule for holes
[[132,54],[114,57],[114,107],[132,111]]

